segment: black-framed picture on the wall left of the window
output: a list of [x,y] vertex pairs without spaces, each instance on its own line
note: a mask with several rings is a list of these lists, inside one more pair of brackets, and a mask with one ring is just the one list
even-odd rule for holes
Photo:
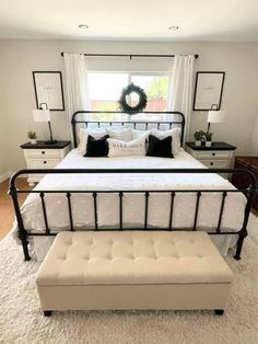
[[47,104],[50,111],[64,111],[61,71],[33,71],[37,108]]

